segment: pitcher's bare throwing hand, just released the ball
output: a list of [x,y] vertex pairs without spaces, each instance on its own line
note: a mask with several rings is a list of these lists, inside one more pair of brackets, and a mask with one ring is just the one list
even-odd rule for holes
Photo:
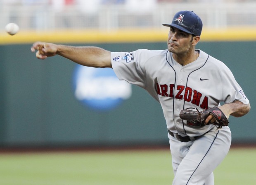
[[31,51],[36,52],[36,57],[39,59],[45,59],[48,56],[54,56],[57,54],[57,45],[52,43],[45,43],[45,42],[35,42],[32,47]]

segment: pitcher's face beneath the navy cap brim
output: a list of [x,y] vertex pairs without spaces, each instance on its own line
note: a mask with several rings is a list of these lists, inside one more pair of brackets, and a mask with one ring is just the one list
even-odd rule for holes
[[175,54],[185,54],[191,49],[193,36],[178,28],[170,27],[168,34],[168,51]]

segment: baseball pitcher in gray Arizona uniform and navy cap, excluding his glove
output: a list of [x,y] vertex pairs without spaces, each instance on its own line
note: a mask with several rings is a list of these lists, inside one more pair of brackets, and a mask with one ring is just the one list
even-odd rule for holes
[[39,59],[61,55],[80,65],[111,67],[120,80],[147,90],[161,104],[166,119],[173,185],[213,185],[213,170],[230,148],[230,129],[212,124],[217,121],[212,114],[204,126],[195,126],[179,113],[190,107],[198,111],[217,107],[226,119],[240,117],[249,112],[249,100],[223,62],[195,49],[202,30],[197,14],[180,11],[170,24],[163,25],[170,28],[168,48],[163,51],[110,52],[44,42],[34,43],[31,51],[37,50]]

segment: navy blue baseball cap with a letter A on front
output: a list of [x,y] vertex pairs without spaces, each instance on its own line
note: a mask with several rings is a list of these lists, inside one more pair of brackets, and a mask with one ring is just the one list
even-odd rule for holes
[[171,24],[163,24],[164,26],[178,28],[184,32],[200,36],[203,28],[201,18],[193,11],[177,12]]

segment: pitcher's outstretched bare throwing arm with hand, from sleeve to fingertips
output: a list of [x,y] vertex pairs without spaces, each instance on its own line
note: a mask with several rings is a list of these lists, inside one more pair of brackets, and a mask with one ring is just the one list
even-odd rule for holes
[[45,59],[54,55],[61,55],[80,65],[89,67],[112,67],[110,51],[94,46],[65,46],[52,43],[36,42],[31,51],[36,57]]

